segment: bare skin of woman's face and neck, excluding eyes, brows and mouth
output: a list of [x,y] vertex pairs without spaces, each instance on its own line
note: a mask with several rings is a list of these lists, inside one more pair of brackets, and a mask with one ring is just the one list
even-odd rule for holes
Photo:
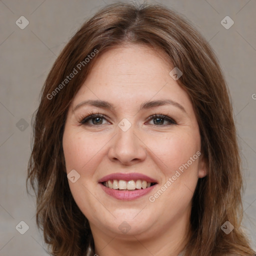
[[[69,187],[75,202],[90,223],[95,253],[99,256],[176,256],[189,235],[191,199],[198,178],[206,175],[200,156],[155,199],[169,177],[197,151],[200,135],[188,94],[172,79],[173,68],[160,50],[145,45],[125,44],[102,53],[69,107],[63,151],[67,173],[80,177]],[[88,99],[108,101],[113,109],[81,105]],[[147,100],[171,99],[183,106],[165,104],[139,111]],[[81,124],[91,112],[106,118]],[[153,114],[173,118],[155,124]],[[131,127],[118,123],[126,118]],[[94,125],[94,126],[93,126]],[[135,200],[119,200],[106,194],[98,179],[113,172],[139,172],[157,180],[152,192]],[[118,226],[126,221],[130,229]],[[151,253],[151,254],[150,254]]]

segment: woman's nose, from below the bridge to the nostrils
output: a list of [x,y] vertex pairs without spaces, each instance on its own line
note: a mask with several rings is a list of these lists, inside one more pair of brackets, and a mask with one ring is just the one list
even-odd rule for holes
[[117,134],[111,140],[108,157],[123,165],[132,165],[146,158],[146,146],[134,133],[132,126],[123,131],[117,127]]

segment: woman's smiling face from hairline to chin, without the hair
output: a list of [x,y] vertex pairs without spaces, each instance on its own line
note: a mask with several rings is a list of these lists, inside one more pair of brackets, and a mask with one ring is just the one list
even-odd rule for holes
[[206,171],[195,113],[172,69],[160,51],[122,45],[99,56],[73,98],[66,172],[93,235],[174,237],[187,227]]

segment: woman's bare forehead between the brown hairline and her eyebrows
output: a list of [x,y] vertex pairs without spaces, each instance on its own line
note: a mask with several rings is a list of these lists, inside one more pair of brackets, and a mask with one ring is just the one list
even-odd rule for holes
[[[141,103],[149,99],[175,99],[191,107],[187,93],[169,75],[170,58],[160,49],[125,44],[101,53],[93,63],[73,105],[85,99]],[[129,105],[130,107],[130,105]]]

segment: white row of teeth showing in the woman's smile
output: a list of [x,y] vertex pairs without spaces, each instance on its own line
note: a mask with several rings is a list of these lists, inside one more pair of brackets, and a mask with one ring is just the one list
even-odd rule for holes
[[151,186],[151,182],[147,182],[146,180],[107,180],[103,183],[106,187],[108,188],[113,188],[113,189],[120,189],[120,190],[135,190],[135,189],[145,189],[147,187]]

